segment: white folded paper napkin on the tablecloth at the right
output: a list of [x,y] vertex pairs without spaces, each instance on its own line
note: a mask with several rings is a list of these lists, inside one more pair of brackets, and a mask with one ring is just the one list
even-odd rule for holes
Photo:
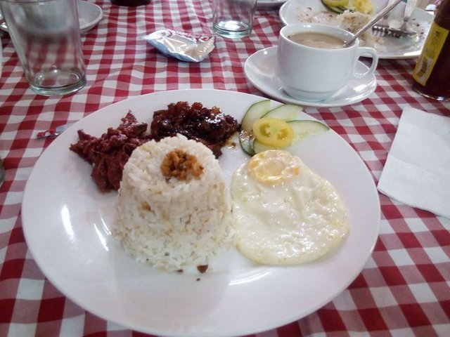
[[450,218],[450,117],[403,110],[378,190]]

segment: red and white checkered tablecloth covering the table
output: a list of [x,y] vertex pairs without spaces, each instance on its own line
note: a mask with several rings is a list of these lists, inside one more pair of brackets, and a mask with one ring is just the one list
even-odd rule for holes
[[[92,0],[91,0],[92,1]],[[92,315],[65,298],[42,274],[25,243],[20,207],[27,178],[52,140],[37,131],[77,121],[130,96],[180,88],[216,88],[264,96],[248,83],[249,55],[277,43],[278,8],[259,9],[254,32],[217,37],[200,63],[167,58],[139,39],[167,27],[211,32],[210,1],[152,0],[139,8],[97,0],[103,20],[84,37],[87,85],[65,97],[28,87],[8,34],[1,37],[0,336],[147,336]],[[406,106],[450,115],[444,104],[411,90],[415,60],[380,60],[378,87],[361,103],[307,108],[361,155],[378,182]],[[380,194],[380,234],[364,270],[332,302],[297,322],[258,333],[274,336],[450,336],[450,219],[413,209]]]

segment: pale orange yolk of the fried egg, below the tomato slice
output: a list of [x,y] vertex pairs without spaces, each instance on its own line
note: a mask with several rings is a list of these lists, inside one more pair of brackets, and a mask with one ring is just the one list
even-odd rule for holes
[[266,150],[253,156],[247,170],[260,183],[276,185],[300,174],[300,164],[287,151]]

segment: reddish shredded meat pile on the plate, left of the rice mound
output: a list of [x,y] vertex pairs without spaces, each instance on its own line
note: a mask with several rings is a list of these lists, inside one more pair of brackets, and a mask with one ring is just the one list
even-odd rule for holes
[[125,163],[136,147],[146,143],[147,123],[136,121],[131,112],[118,128],[108,128],[100,138],[78,131],[79,141],[70,150],[94,166],[91,177],[102,192],[118,190]]

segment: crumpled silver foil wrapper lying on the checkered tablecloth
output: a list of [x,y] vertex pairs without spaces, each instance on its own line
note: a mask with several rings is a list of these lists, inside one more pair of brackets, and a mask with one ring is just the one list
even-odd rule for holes
[[214,37],[161,29],[142,39],[167,56],[187,62],[200,62],[214,49]]

